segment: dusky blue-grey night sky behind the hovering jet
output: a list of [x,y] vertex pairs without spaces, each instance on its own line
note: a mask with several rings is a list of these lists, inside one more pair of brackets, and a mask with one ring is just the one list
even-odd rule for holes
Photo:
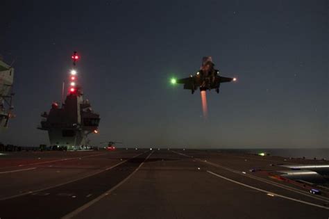
[[[15,114],[1,142],[49,144],[40,114],[78,77],[101,115],[93,145],[328,147],[328,1],[1,1],[0,54],[15,60]],[[222,76],[191,95],[171,76],[203,56]]]

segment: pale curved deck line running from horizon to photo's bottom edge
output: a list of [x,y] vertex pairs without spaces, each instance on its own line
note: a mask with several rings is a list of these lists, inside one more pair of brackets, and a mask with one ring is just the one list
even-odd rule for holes
[[[154,152],[154,151],[153,151]],[[122,181],[119,182],[119,184],[115,185],[114,187],[110,188],[110,190],[107,190],[105,193],[103,193],[102,195],[99,195],[99,197],[96,197],[94,200],[91,200],[90,202],[87,202],[86,204],[83,204],[83,206],[79,207],[78,209],[71,211],[71,213],[68,213],[66,216],[63,216],[61,219],[69,219],[69,218],[73,218],[74,216],[76,216],[78,213],[81,213],[81,211],[84,211],[85,209],[89,208],[90,206],[92,206],[92,204],[95,204],[96,202],[99,202],[99,200],[103,199],[103,197],[106,197],[107,195],[110,195],[114,190],[116,190],[117,188],[119,188],[119,186],[121,186],[122,184],[124,184],[128,179],[130,179],[130,177],[132,177],[135,172],[137,172],[138,170],[140,170],[140,168],[142,167],[142,165],[145,163],[145,161],[147,159],[149,159],[149,157],[153,154],[153,152],[151,152],[148,156],[146,156],[146,159],[140,163],[140,165],[132,172],[130,173],[130,175],[128,175],[128,177],[126,177],[125,179],[123,179]],[[144,154],[144,153],[143,153]]]

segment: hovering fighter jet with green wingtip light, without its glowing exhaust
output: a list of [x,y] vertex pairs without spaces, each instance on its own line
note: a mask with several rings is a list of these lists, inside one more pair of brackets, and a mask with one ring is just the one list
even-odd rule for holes
[[202,90],[215,89],[219,93],[221,83],[237,81],[236,78],[228,78],[219,75],[219,70],[214,68],[212,58],[210,56],[203,57],[202,66],[196,74],[185,79],[171,79],[171,83],[183,83],[184,89],[191,90],[192,94],[198,88]]

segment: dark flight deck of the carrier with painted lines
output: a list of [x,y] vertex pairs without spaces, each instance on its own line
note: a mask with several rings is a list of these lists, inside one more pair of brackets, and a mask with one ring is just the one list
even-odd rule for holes
[[8,152],[0,218],[327,219],[325,187],[312,195],[275,173],[328,163],[192,149]]

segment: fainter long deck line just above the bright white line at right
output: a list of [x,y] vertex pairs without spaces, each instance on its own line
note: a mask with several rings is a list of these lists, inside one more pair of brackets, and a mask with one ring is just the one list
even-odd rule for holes
[[[172,152],[174,152],[174,151],[172,151]],[[182,153],[179,153],[179,152],[174,152],[174,153],[180,154],[180,155],[183,155],[183,156],[188,156],[186,154],[182,154]],[[202,162],[202,163],[207,163],[209,165],[213,165],[214,167],[217,167],[217,168],[222,168],[224,170],[228,170],[230,172],[234,172],[234,173],[236,173],[238,175],[243,175],[243,176],[249,177],[251,179],[262,181],[262,182],[264,182],[266,184],[271,184],[272,186],[280,187],[280,188],[283,188],[283,189],[286,189],[286,190],[290,190],[290,191],[292,191],[294,193],[298,193],[298,194],[301,194],[301,195],[305,195],[307,197],[311,197],[314,200],[320,200],[322,202],[328,202],[329,201],[329,198],[327,198],[327,197],[317,197],[317,196],[314,196],[314,195],[310,195],[309,193],[305,192],[304,190],[300,190],[298,188],[293,188],[293,187],[286,186],[286,185],[283,185],[283,184],[278,184],[278,183],[276,183],[274,181],[269,181],[268,179],[262,179],[260,177],[256,177],[256,176],[253,176],[253,175],[244,174],[244,173],[242,173],[242,172],[240,172],[238,170],[234,170],[232,168],[227,168],[227,167],[225,167],[223,165],[219,165],[217,163],[212,163],[212,162],[209,162],[209,161],[208,162],[205,162],[205,161],[203,161],[201,159],[196,159],[196,160],[199,161],[199,162]]]

